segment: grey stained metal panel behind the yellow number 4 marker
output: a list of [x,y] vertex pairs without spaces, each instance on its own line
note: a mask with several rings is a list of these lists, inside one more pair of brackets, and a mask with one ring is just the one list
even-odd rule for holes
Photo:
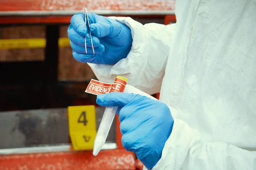
[[[105,108],[96,107],[99,128]],[[108,143],[116,143],[115,123]],[[0,149],[70,144],[67,108],[0,112]]]

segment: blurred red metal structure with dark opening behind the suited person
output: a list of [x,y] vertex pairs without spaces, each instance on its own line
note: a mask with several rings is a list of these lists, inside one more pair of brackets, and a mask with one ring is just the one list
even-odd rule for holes
[[[90,80],[96,77],[86,63],[73,59],[67,38],[70,18],[83,12],[83,7],[103,16],[131,17],[143,24],[176,22],[175,0],[1,0],[0,170],[48,170],[52,167],[42,164],[53,161],[53,157],[56,160],[51,164],[55,169],[68,170],[74,166],[70,161],[64,165],[64,160],[76,162],[77,169],[142,168],[140,161],[122,148],[121,138],[116,135],[118,123],[113,123],[107,139],[116,148],[109,148],[97,159],[90,152],[74,153],[70,147],[67,149],[72,147],[67,107],[95,105],[96,128],[105,110],[96,105],[95,95],[84,93]],[[44,147],[55,150],[59,146],[59,152],[51,151],[57,156],[49,159],[49,155],[44,155],[44,159],[40,158],[44,161],[28,165],[35,160],[26,154],[27,150],[43,147],[30,151],[38,154]],[[117,163],[116,158],[121,161]],[[102,160],[105,161],[99,164]],[[80,164],[85,161],[86,165]]]

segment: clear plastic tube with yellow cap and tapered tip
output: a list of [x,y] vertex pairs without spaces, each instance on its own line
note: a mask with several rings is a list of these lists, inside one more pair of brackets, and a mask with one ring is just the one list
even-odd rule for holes
[[[125,77],[117,76],[111,92],[123,92],[125,90],[126,84],[127,79]],[[99,151],[102,149],[103,145],[106,142],[110,127],[116,115],[117,108],[118,107],[107,107],[104,111],[102,121],[100,122],[99,129],[94,140],[94,156],[98,155]]]

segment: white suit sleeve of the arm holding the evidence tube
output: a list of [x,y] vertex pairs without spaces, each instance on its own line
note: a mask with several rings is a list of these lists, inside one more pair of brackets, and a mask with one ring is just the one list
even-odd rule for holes
[[204,142],[198,131],[174,119],[172,133],[153,170],[182,169],[256,170],[256,152],[222,142]]

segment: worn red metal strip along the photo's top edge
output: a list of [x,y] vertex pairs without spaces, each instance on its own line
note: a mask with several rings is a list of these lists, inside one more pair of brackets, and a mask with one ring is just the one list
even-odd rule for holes
[[81,10],[167,10],[174,9],[175,0],[1,0],[0,11],[72,11]]

